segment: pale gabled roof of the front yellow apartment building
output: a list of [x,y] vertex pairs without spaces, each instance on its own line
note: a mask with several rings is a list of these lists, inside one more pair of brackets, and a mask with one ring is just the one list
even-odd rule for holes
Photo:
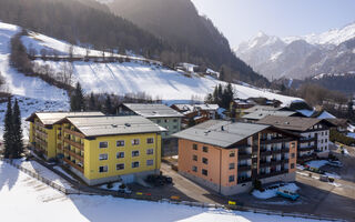
[[166,130],[140,115],[69,117],[69,121],[85,137],[165,132]]

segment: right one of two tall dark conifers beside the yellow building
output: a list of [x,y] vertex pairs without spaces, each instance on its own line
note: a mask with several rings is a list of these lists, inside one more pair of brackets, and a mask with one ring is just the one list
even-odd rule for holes
[[21,127],[21,111],[18,103],[18,100],[14,100],[13,104],[13,114],[12,114],[12,121],[13,121],[13,152],[12,158],[18,159],[21,158],[21,154],[23,152],[23,134],[22,134],[22,127]]

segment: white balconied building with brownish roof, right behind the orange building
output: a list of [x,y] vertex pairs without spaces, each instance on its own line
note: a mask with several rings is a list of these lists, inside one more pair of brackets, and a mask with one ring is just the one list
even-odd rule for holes
[[331,122],[314,118],[266,117],[260,124],[271,124],[300,135],[298,162],[313,159],[316,154],[328,153]]

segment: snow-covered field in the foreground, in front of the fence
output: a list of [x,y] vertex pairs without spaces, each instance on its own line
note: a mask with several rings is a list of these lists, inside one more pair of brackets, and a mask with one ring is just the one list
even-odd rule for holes
[[23,222],[313,222],[300,218],[201,209],[95,195],[64,195],[0,161],[1,221]]

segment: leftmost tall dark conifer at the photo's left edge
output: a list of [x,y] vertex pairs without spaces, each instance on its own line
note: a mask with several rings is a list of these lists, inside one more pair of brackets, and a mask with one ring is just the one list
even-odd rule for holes
[[13,151],[13,124],[12,124],[12,105],[11,98],[8,98],[8,110],[4,115],[3,143],[4,158],[12,158]]

